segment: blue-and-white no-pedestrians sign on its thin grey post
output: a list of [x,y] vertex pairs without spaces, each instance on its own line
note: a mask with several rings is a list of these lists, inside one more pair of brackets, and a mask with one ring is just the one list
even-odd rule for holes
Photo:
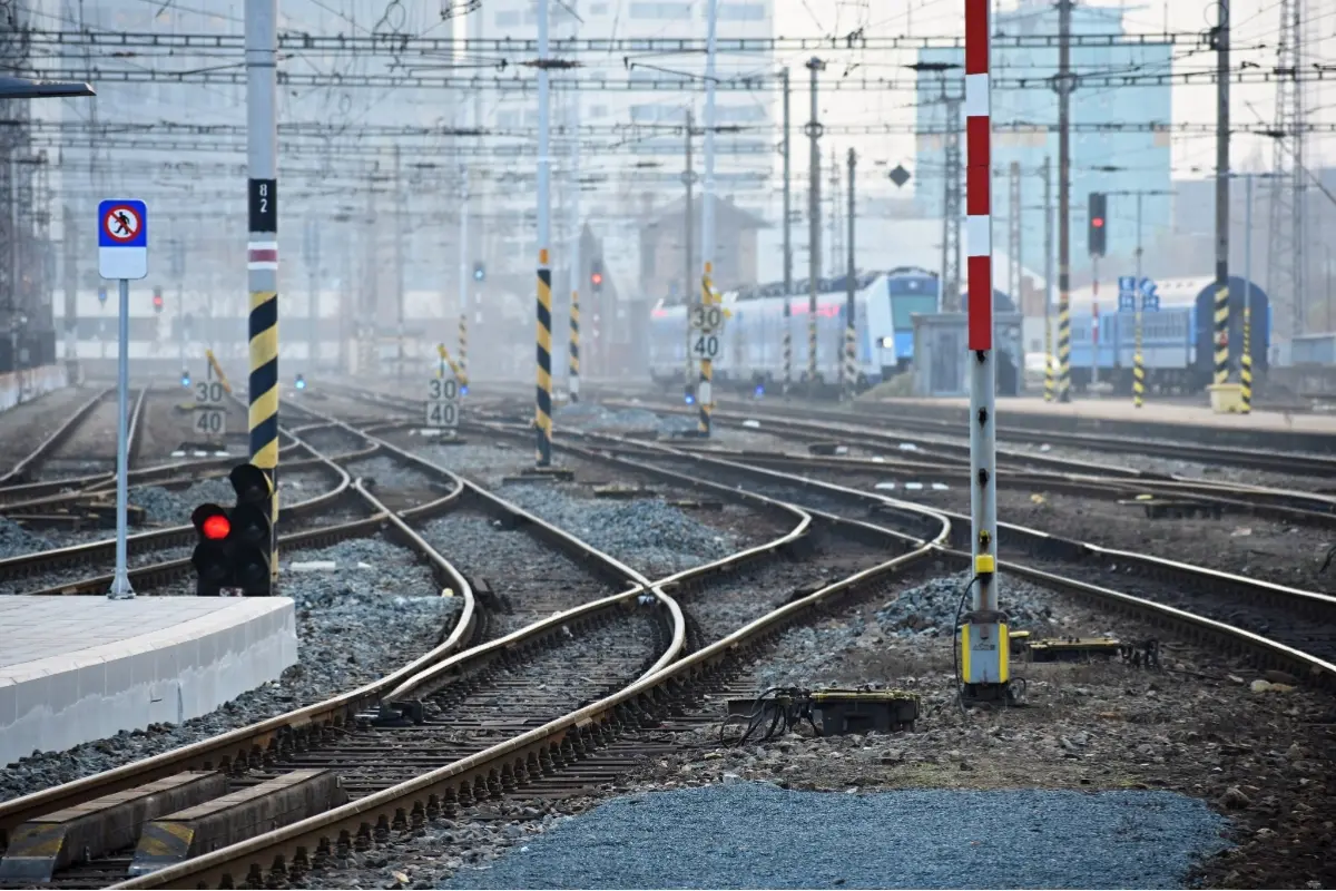
[[142,200],[118,199],[98,204],[98,271],[120,283],[116,345],[116,574],[107,597],[132,600],[126,554],[126,505],[130,501],[130,279],[148,275],[148,208]]

